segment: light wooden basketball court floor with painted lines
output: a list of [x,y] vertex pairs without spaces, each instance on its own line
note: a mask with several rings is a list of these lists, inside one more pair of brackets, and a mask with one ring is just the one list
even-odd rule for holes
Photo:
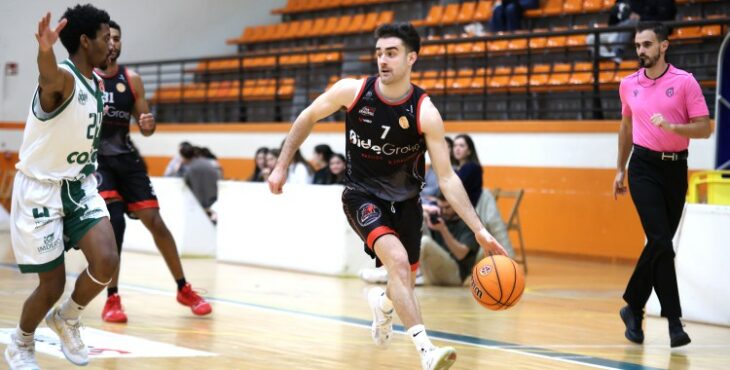
[[[70,291],[84,262],[78,253],[67,256]],[[649,318],[643,346],[624,339],[618,309],[631,266],[532,256],[529,262],[525,295],[509,311],[486,311],[466,287],[417,289],[434,343],[457,350],[453,369],[730,368],[728,327],[688,322],[692,344],[671,350],[666,321]],[[184,267],[188,280],[213,303],[211,316],[194,317],[175,301],[174,282],[160,256],[124,253],[120,290],[130,321],[101,321],[99,297],[83,316],[84,335],[96,329],[210,355],[92,358],[89,369],[420,368],[404,335],[386,349],[372,344],[368,285],[358,279],[208,259],[186,259]],[[35,284],[35,276],[17,271],[8,234],[0,233],[0,328],[17,324]],[[48,354],[37,358],[44,369],[73,367]]]

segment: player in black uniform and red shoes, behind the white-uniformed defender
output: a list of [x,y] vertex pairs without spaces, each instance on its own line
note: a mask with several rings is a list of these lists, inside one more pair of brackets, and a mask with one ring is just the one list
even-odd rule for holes
[[[177,301],[189,306],[196,315],[207,315],[212,310],[210,304],[192,290],[185,280],[175,239],[160,217],[157,196],[147,175],[147,167],[129,138],[131,117],[137,120],[144,136],[155,132],[155,118],[150,114],[144,98],[142,79],[133,71],[117,64],[122,51],[121,28],[114,21],[110,22],[109,28],[114,47],[107,68],[97,70],[106,87],[97,177],[99,193],[106,200],[111,216],[117,248],[121,256],[126,228],[124,213],[130,212],[152,233],[157,249],[177,282]],[[118,294],[118,284],[119,270],[107,289],[107,302],[102,311],[102,319],[106,322],[127,322],[127,315],[122,309]]]

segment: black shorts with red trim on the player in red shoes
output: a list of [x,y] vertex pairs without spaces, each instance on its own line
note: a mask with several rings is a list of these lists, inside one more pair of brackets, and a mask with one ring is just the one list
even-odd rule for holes
[[107,201],[124,201],[128,212],[160,208],[147,165],[136,152],[99,155],[96,177],[99,195]]

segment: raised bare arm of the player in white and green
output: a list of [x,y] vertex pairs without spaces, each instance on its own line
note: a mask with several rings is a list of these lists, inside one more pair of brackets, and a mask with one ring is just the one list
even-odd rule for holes
[[38,41],[38,86],[40,88],[41,107],[46,112],[58,108],[73,92],[73,76],[58,67],[53,45],[56,44],[61,30],[67,20],[61,19],[58,25],[51,30],[51,13],[38,22],[38,31],[35,38]]

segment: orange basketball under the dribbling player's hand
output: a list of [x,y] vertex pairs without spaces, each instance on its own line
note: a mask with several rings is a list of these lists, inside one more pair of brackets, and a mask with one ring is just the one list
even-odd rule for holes
[[506,310],[520,300],[525,290],[525,273],[507,256],[488,256],[474,266],[471,294],[490,310]]

